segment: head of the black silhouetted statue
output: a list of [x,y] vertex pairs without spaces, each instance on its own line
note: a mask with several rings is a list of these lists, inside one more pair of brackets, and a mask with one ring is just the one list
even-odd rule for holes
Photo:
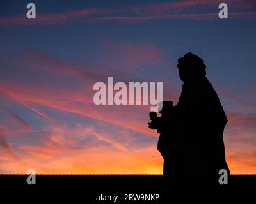
[[206,75],[204,61],[191,52],[178,59],[177,68],[179,68],[180,80],[183,82],[192,82],[204,78]]

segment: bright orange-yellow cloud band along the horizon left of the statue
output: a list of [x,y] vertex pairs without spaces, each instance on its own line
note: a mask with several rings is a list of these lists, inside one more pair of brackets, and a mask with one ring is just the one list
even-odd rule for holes
[[6,163],[6,171],[15,166],[13,173],[24,173],[28,168],[33,168],[36,173],[158,174],[162,173],[163,168],[156,147],[140,148],[132,152],[116,152],[105,148],[59,151],[26,147],[26,150],[28,156],[23,157],[22,165]]

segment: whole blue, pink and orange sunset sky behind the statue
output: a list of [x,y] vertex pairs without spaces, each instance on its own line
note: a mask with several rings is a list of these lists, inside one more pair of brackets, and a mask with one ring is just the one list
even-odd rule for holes
[[186,52],[227,114],[231,173],[256,173],[256,1],[227,0],[219,19],[222,2],[1,1],[0,173],[162,173],[150,106],[97,106],[93,85],[163,82],[177,103]]

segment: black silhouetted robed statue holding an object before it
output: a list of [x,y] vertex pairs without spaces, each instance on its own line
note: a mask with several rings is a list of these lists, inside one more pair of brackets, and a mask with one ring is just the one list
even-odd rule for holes
[[171,101],[164,101],[160,118],[150,113],[149,128],[160,133],[157,149],[164,158],[164,179],[177,187],[218,187],[219,170],[230,173],[223,142],[227,117],[205,77],[203,60],[189,52],[177,67],[184,82],[179,102],[172,108]]

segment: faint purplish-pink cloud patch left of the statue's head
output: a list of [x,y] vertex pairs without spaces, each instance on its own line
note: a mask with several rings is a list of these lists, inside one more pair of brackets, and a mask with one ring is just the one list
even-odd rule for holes
[[[142,65],[166,66],[170,62],[164,61],[164,51],[150,41],[143,41],[134,45],[128,41],[116,42],[111,40],[102,41],[102,57],[109,64],[109,67],[115,66],[116,69],[122,69],[123,73],[140,71]],[[111,50],[111,52],[109,52]],[[106,57],[106,59],[105,59]],[[115,71],[113,70],[113,71]],[[120,77],[120,76],[117,76]]]

